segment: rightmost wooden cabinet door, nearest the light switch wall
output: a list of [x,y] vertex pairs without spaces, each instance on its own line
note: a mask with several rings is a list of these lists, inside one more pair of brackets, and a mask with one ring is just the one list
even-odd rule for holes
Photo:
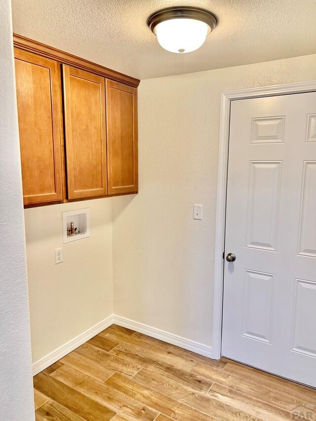
[[137,89],[107,80],[109,194],[137,193]]

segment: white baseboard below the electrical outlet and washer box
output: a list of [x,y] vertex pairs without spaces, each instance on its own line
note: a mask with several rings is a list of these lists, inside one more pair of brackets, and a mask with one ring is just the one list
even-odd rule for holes
[[40,373],[40,371],[45,370],[45,368],[54,364],[56,361],[60,360],[65,355],[69,354],[69,352],[78,348],[78,346],[84,344],[89,339],[93,338],[95,335],[97,335],[98,333],[102,332],[104,329],[111,326],[114,323],[113,320],[114,320],[114,315],[111,314],[111,316],[107,317],[106,319],[92,326],[90,329],[86,330],[83,333],[80,333],[80,335],[78,335],[76,338],[70,340],[66,344],[60,346],[59,348],[50,352],[48,355],[45,355],[40,360],[36,361],[32,365],[33,376]]

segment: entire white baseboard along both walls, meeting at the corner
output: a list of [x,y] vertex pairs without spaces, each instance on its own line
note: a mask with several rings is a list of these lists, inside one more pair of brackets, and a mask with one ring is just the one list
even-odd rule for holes
[[33,365],[33,376],[40,373],[45,368],[54,364],[56,361],[63,358],[65,355],[72,352],[78,346],[84,344],[89,339],[93,338],[104,329],[110,327],[113,323],[126,327],[136,332],[143,333],[144,335],[151,336],[152,338],[159,339],[160,341],[168,344],[179,346],[180,348],[188,349],[189,351],[196,352],[197,354],[204,355],[212,358],[212,347],[199,344],[198,342],[191,341],[190,339],[182,338],[181,336],[174,335],[172,333],[164,332],[163,330],[156,329],[151,326],[144,325],[143,323],[135,322],[133,320],[126,319],[125,317],[116,316],[112,314],[100,323],[92,326],[90,329],[78,335],[76,338],[60,346],[48,355],[44,356],[40,360],[36,361]]

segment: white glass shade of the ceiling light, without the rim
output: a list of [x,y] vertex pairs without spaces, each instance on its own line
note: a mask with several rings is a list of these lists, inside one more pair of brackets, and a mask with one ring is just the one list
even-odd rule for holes
[[209,26],[196,19],[169,19],[160,22],[155,33],[161,47],[173,53],[197,50],[205,41]]

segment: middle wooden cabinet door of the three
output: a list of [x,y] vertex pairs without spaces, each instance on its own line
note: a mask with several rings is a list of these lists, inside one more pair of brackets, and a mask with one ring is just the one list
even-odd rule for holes
[[107,194],[105,78],[63,65],[68,198]]

